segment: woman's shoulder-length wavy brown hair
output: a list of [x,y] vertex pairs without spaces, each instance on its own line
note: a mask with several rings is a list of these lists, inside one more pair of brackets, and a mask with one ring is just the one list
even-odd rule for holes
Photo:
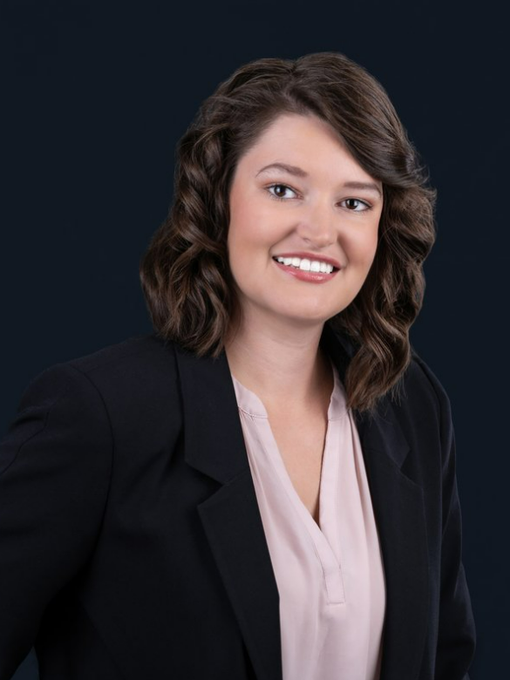
[[423,303],[423,261],[435,240],[436,190],[388,95],[338,52],[264,58],[237,69],[200,106],[177,145],[174,199],[140,262],[156,333],[218,356],[239,323],[227,252],[229,193],[241,156],[281,114],[313,114],[383,185],[376,255],[360,292],[327,323],[351,340],[347,404],[373,413],[399,396],[409,329]]

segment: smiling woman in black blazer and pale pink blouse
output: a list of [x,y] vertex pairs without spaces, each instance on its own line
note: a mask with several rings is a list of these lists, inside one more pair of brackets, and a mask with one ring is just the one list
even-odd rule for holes
[[141,263],[155,333],[43,372],[1,445],[0,680],[466,680],[435,192],[337,53],[207,99]]

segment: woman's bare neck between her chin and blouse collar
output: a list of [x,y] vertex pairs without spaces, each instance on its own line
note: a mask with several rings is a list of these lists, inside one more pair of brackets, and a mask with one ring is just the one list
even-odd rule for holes
[[230,371],[268,407],[299,410],[329,399],[333,376],[319,347],[322,328],[245,321],[225,347]]

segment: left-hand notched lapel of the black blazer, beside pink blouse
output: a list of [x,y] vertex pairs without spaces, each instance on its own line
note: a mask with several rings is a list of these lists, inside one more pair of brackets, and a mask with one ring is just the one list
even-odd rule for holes
[[278,588],[226,355],[198,358],[175,348],[185,460],[222,484],[198,505],[205,535],[257,680],[282,680]]

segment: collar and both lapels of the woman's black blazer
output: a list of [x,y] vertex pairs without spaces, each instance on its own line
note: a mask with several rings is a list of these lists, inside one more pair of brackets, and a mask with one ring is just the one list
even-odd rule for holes
[[[355,347],[325,324],[321,343],[342,381]],[[220,487],[199,504],[204,531],[230,597],[257,680],[281,680],[279,596],[258,510],[226,358],[175,345],[185,460]],[[386,581],[380,680],[419,672],[426,630],[428,553],[423,490],[404,474],[410,446],[389,398],[375,417],[355,413]],[[339,642],[341,644],[341,642]]]

